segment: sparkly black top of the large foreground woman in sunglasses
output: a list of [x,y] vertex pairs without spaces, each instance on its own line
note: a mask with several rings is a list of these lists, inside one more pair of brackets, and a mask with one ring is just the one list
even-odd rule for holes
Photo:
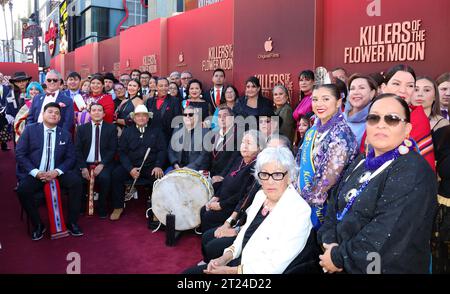
[[352,163],[332,192],[319,243],[339,244],[331,258],[347,273],[367,273],[374,255],[381,258],[381,273],[429,273],[435,174],[420,154],[400,156],[369,182],[339,222],[336,213],[347,204],[344,196],[361,186],[364,164],[355,167],[362,159]]

